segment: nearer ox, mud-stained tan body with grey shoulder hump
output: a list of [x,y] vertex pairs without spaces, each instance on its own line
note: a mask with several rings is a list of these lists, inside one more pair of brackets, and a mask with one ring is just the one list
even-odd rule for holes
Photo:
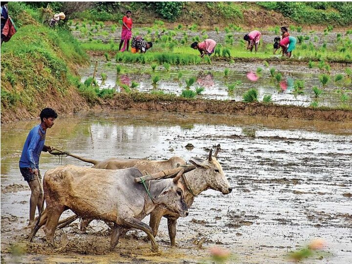
[[153,250],[157,251],[153,230],[141,220],[155,206],[186,217],[183,186],[179,183],[179,175],[174,179],[146,181],[147,190],[134,182],[134,178],[140,176],[143,175],[136,168],[99,170],[66,165],[48,170],[43,181],[46,239],[54,242],[61,214],[71,209],[83,218],[113,222],[111,249],[119,240],[120,230],[137,228],[149,236]]

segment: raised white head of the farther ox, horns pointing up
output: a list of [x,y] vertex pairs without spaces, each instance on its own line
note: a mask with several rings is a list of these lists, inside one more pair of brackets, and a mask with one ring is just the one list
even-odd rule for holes
[[221,192],[222,194],[229,194],[232,191],[227,178],[225,177],[222,167],[217,160],[217,155],[220,150],[220,145],[212,156],[213,150],[210,150],[208,159],[202,159],[199,157],[193,157],[190,162],[196,166],[196,168],[204,169],[202,176],[206,181],[210,189]]

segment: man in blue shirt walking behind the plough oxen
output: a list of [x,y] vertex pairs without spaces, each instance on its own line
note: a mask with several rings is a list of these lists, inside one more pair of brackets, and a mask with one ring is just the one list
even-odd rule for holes
[[51,108],[45,108],[40,113],[41,123],[35,126],[28,134],[23,146],[20,159],[20,171],[31,189],[29,201],[29,226],[34,223],[36,206],[40,212],[43,203],[43,192],[41,189],[42,176],[39,171],[39,157],[44,152],[51,152],[50,146],[45,146],[45,134],[48,128],[54,125],[57,113]]

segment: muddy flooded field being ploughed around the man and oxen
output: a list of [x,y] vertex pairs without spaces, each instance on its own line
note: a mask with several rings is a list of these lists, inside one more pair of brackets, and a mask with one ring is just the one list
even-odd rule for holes
[[[287,252],[313,238],[325,240],[327,248],[309,263],[352,262],[352,123],[142,111],[60,117],[46,143],[94,159],[179,155],[188,160],[221,144],[218,158],[233,192],[199,195],[190,215],[178,220],[177,248],[169,247],[162,220],[157,254],[145,234],[135,231],[108,252],[109,230],[99,221],[86,233],[78,222],[57,231],[56,247],[46,245],[42,230],[33,243],[24,242],[30,192],[18,160],[35,124],[1,126],[1,256],[6,262],[199,263],[209,261],[209,248],[216,245],[228,248],[239,263],[283,263]],[[185,148],[188,143],[192,150]],[[42,154],[43,175],[58,164],[88,166]],[[10,253],[20,249],[26,253]]]

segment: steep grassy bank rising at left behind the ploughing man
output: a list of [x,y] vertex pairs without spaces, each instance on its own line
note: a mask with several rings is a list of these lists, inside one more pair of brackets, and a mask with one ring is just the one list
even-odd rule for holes
[[39,23],[38,10],[8,5],[18,31],[1,46],[1,117],[15,109],[35,116],[48,102],[60,109],[67,100],[79,100],[75,68],[88,63],[80,44],[69,30]]

